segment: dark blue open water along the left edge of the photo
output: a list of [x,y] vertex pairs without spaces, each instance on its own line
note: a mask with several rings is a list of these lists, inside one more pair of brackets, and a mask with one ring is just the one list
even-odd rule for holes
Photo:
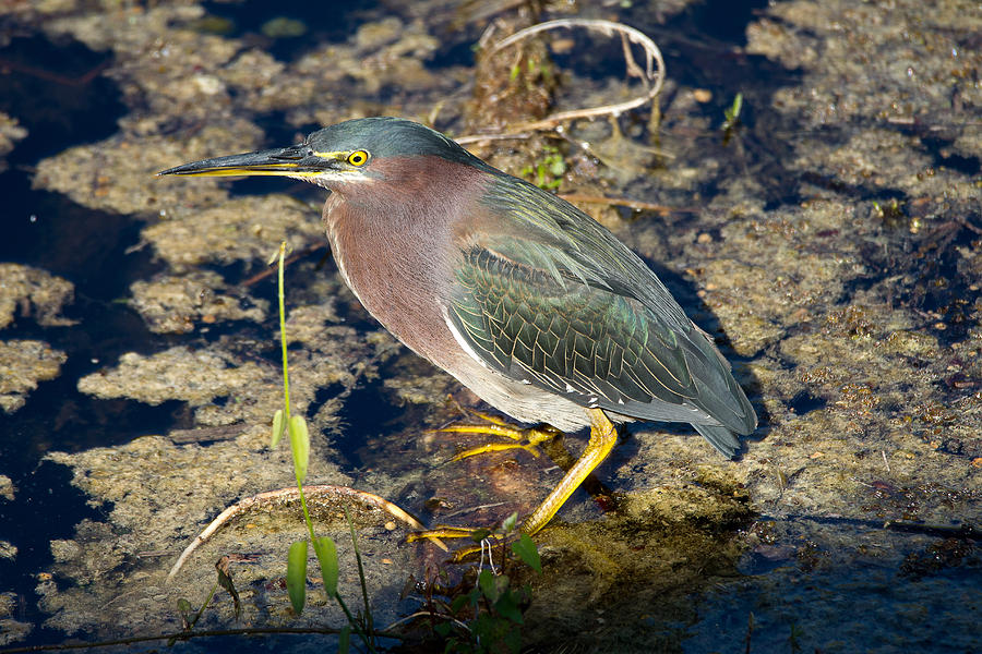
[[[0,111],[16,117],[26,138],[7,157],[0,173],[3,239],[0,261],[23,263],[64,277],[75,287],[64,307],[69,327],[39,327],[31,315],[15,313],[4,338],[40,339],[65,351],[61,375],[41,383],[26,404],[0,415],[0,473],[13,482],[14,501],[0,500],[0,538],[17,548],[16,559],[0,560],[5,591],[36,607],[35,574],[51,564],[50,541],[69,538],[83,519],[97,519],[70,484],[71,472],[40,462],[49,450],[80,450],[132,438],[135,433],[166,431],[184,424],[184,405],[146,407],[136,402],[95,400],[75,380],[121,353],[151,348],[153,336],[143,320],[118,302],[129,283],[151,275],[156,265],[146,251],[130,253],[140,226],[125,216],[83,208],[64,196],[31,187],[34,166],[65,147],[105,138],[125,111],[120,93],[99,72],[111,56],[93,52],[72,40],[13,38],[0,49]],[[43,616],[16,616],[39,623]],[[52,635],[52,634],[49,634]],[[45,630],[32,638],[45,639]]]

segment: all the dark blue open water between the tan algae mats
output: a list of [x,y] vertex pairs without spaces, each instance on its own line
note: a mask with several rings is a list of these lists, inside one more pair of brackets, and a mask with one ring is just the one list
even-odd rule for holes
[[[278,60],[290,62],[325,43],[343,43],[359,25],[384,14],[387,10],[385,3],[381,4],[383,7],[380,8],[379,3],[279,2],[271,7],[263,2],[215,2],[205,7],[213,17],[221,19],[212,23],[209,28],[261,45]],[[738,93],[743,94],[747,109],[741,116],[739,148],[734,144],[724,145],[716,132],[693,138],[705,138],[707,155],[724,153],[732,156],[738,161],[734,166],[742,166],[750,177],[758,180],[765,209],[800,204],[812,195],[813,187],[834,191],[855,203],[873,199],[886,203],[891,197],[902,197],[900,190],[850,186],[824,173],[803,180],[800,173],[782,165],[791,146],[779,136],[794,132],[798,126],[788,124],[787,118],[770,109],[770,98],[778,88],[797,84],[801,75],[763,57],[735,51],[745,43],[743,35],[747,23],[756,20],[767,4],[722,0],[704,2],[670,16],[663,23],[650,14],[649,8],[635,7],[624,10],[621,20],[644,28],[659,43],[671,76],[678,84],[714,89],[711,102],[697,108],[714,124],[719,122],[732,98]],[[263,25],[277,16],[299,21],[306,31],[292,38],[263,35]],[[9,541],[19,549],[15,559],[0,560],[0,591],[12,591],[22,598],[23,608],[14,617],[37,626],[26,644],[39,644],[63,639],[63,634],[39,627],[46,616],[35,608],[36,576],[52,562],[49,542],[70,538],[80,520],[99,519],[108,510],[105,506],[88,506],[86,497],[70,484],[67,469],[41,462],[44,455],[50,450],[80,451],[124,444],[143,434],[163,434],[193,424],[193,417],[183,402],[170,401],[148,407],[129,400],[98,400],[79,392],[76,379],[106,367],[125,352],[153,353],[173,344],[197,343],[202,339],[214,341],[228,334],[225,329],[230,330],[235,326],[216,327],[204,337],[149,332],[142,318],[121,302],[128,296],[133,280],[147,279],[161,268],[161,264],[153,261],[149,249],[135,247],[140,243],[143,225],[129,216],[81,207],[57,193],[32,190],[33,167],[40,159],[73,145],[110,136],[118,129],[117,120],[124,116],[127,107],[120,89],[110,78],[97,72],[92,74],[111,62],[111,53],[93,52],[77,41],[51,41],[36,26],[24,25],[21,32],[23,36],[13,38],[0,49],[0,68],[3,69],[0,74],[0,110],[16,117],[29,134],[8,155],[9,169],[0,173],[0,197],[3,198],[0,208],[3,226],[0,262],[27,264],[69,279],[75,286],[75,295],[65,307],[64,315],[79,320],[71,327],[43,328],[29,316],[19,316],[3,332],[7,339],[47,341],[68,354],[68,363],[58,378],[41,383],[29,395],[23,409],[11,415],[0,415],[0,473],[10,476],[16,488],[14,501],[0,500],[0,540]],[[441,34],[445,38],[427,60],[427,65],[440,72],[451,65],[469,63],[472,59],[470,44],[479,36],[479,31],[471,26],[457,32],[446,29]],[[616,52],[616,48],[613,51]],[[610,52],[598,51],[596,59],[586,56],[577,62],[571,61],[570,65],[584,66],[602,76],[610,72],[602,65],[610,57]],[[562,65],[563,58],[559,57],[558,62]],[[619,61],[616,65],[621,65]],[[291,142],[298,131],[295,125],[286,125],[284,118],[278,112],[255,118],[271,145]],[[300,131],[313,126],[302,125]],[[909,130],[915,131],[915,128]],[[848,135],[839,133],[837,128],[829,128],[827,137],[837,141],[846,140]],[[934,166],[969,175],[979,174],[979,157],[951,154],[948,152],[950,141],[943,134],[926,138],[925,143]],[[718,195],[724,192],[724,182],[723,178],[712,180],[700,187],[699,193],[706,197]],[[235,182],[232,190],[236,195],[287,190],[311,202],[318,202],[321,197],[319,192],[307,186],[298,189],[290,182],[268,180]],[[679,197],[684,197],[684,194]],[[901,218],[908,220],[909,216]],[[959,267],[960,258],[955,253],[958,247],[970,247],[978,240],[978,234],[970,228],[954,226],[951,233],[945,234],[944,239],[939,254],[927,257],[925,264],[910,256],[924,246],[923,237],[909,230],[897,230],[891,237],[893,247],[889,251],[870,246],[864,262],[866,272],[850,281],[847,294],[851,296],[871,288],[888,276],[911,276],[914,281],[898,291],[896,301],[922,312],[944,314],[949,326],[937,336],[943,342],[962,340],[972,327],[967,317],[968,308],[961,302],[969,294],[967,289],[971,280]],[[254,271],[226,269],[223,274],[241,280]],[[332,272],[332,264],[328,263],[324,274]],[[950,283],[934,283],[939,278],[948,279]],[[263,296],[272,299],[271,291],[264,293]],[[690,312],[698,308],[698,300],[691,290],[682,292],[680,298]],[[346,318],[349,325],[361,330],[372,326],[363,314],[352,313]],[[262,355],[273,354],[264,352]],[[323,389],[314,408],[337,391],[334,387]],[[363,384],[347,399],[347,419],[350,424],[360,425],[363,433],[385,434],[418,417],[414,414],[418,409],[395,405],[391,400],[392,393],[381,382]],[[801,391],[789,405],[793,412],[804,415],[824,408],[828,402],[828,398]],[[766,426],[763,429],[762,433],[766,433]],[[340,450],[339,460],[352,474],[376,463],[372,459],[375,453],[367,451],[361,437],[354,432],[342,433],[333,443]],[[574,499],[578,497],[574,496]],[[863,525],[846,529],[855,529],[858,541],[865,537],[860,533],[865,533]],[[978,591],[978,559],[970,558],[975,562],[967,569],[943,570],[926,580],[900,570],[901,561],[930,553],[930,538],[911,543],[909,552],[898,552],[886,562],[865,559],[862,553],[853,553],[854,556],[843,554],[838,561],[842,567],[836,567],[823,558],[814,574],[805,570],[807,566],[802,562],[805,557],[800,554],[777,558],[749,557],[741,567],[744,580],[709,593],[699,604],[699,617],[695,620],[704,622],[680,627],[685,633],[685,644],[672,651],[744,651],[745,640],[753,644],[753,647],[747,645],[746,651],[803,651],[801,642],[827,642],[824,638],[816,638],[815,633],[801,631],[800,620],[795,617],[798,611],[809,614],[810,620],[815,617],[810,614],[812,607],[809,605],[827,601],[823,610],[826,610],[829,620],[834,620],[838,613],[852,610],[855,602],[861,605],[877,601],[882,605],[903,605],[909,600],[905,594],[917,593],[919,584],[947,583],[965,610],[978,611],[978,595],[973,596],[973,591]],[[850,590],[848,579],[843,580],[848,577],[843,567],[853,565],[857,572]],[[789,570],[792,571],[789,573]],[[962,573],[963,578],[960,577]],[[781,585],[789,579],[793,579],[794,585]],[[774,588],[768,585],[771,583]],[[901,590],[891,591],[896,584],[901,584]],[[762,600],[768,592],[779,596],[773,606]],[[932,604],[925,610],[936,617],[936,622],[924,633],[931,637],[943,632],[948,625],[944,610],[950,609]],[[747,626],[749,613],[757,616],[755,628]],[[956,626],[953,629],[962,625],[957,619],[950,623]],[[858,647],[884,652],[890,651],[890,646],[929,651],[935,644],[930,638],[905,640],[885,635],[903,628],[905,623],[898,619],[897,625],[871,628],[869,635],[847,634],[843,639],[854,638],[852,642],[859,643]],[[722,642],[718,633],[726,633]],[[970,642],[966,634],[959,634],[956,640],[958,643]],[[241,641],[215,643],[216,651],[241,646]]]

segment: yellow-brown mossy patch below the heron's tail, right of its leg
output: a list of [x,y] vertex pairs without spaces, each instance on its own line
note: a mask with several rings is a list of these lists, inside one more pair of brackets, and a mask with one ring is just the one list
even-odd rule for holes
[[741,546],[730,534],[752,516],[745,492],[683,485],[635,493],[624,505],[618,517],[541,534],[546,572],[527,579],[535,601],[525,616],[526,642],[666,650],[667,634],[638,628],[637,620],[694,619],[696,607],[682,589],[735,574]]

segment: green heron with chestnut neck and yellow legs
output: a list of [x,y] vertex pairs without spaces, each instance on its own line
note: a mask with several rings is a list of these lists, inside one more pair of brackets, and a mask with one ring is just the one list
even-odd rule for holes
[[735,434],[756,428],[726,359],[634,252],[429,128],[349,120],[299,145],[160,174],[285,175],[327,189],[338,270],[396,338],[519,422],[589,426],[526,533],[603,461],[613,423],[690,423],[728,458]]

